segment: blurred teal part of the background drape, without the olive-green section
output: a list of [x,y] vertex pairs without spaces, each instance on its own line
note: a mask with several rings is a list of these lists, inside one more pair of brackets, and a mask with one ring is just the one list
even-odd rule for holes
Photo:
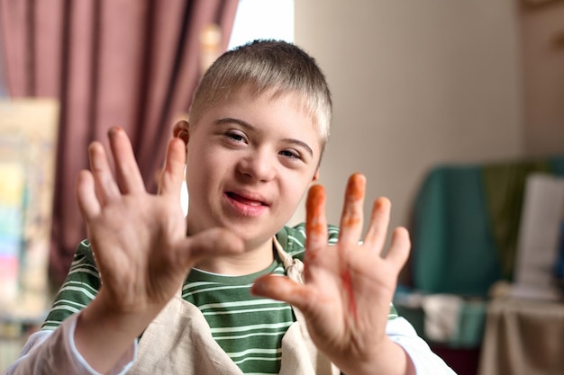
[[500,278],[478,165],[441,165],[416,197],[412,228],[414,288],[486,297]]

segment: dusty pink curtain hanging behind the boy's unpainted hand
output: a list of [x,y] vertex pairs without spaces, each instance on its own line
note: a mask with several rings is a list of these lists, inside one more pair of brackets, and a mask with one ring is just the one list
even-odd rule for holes
[[222,28],[226,49],[238,0],[0,0],[11,97],[61,104],[50,249],[54,286],[86,236],[75,181],[86,147],[109,127],[132,138],[143,178],[156,190],[172,121],[187,111],[200,77],[199,32]]

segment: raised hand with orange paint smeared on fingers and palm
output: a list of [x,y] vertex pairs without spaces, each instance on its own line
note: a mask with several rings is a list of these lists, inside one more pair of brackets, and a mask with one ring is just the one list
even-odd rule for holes
[[313,186],[306,202],[305,284],[266,276],[253,292],[285,300],[305,317],[317,345],[341,371],[352,374],[405,374],[412,363],[386,335],[390,303],[397,276],[409,254],[409,235],[396,228],[383,254],[390,202],[374,202],[368,231],[362,241],[366,179],[350,176],[337,245],[327,244],[325,192]]

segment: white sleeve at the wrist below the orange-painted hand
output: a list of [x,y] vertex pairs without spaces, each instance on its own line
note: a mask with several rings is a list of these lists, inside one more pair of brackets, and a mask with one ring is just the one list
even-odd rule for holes
[[417,375],[456,375],[441,357],[432,352],[404,317],[388,320],[386,333],[393,342],[404,348],[414,362]]

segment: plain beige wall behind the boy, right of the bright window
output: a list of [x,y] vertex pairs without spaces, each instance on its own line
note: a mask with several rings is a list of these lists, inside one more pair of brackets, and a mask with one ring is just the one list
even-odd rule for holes
[[[367,175],[367,212],[386,195],[392,224],[407,225],[432,165],[522,155],[514,1],[295,6],[296,44],[317,58],[332,88],[332,138],[321,177],[332,223],[353,172]],[[302,219],[299,210],[293,220]]]

